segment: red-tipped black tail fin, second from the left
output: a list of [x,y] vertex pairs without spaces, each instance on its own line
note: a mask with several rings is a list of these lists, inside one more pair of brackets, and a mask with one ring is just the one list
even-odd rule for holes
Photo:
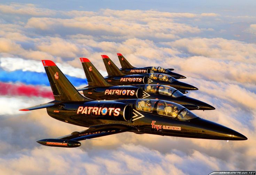
[[88,85],[95,87],[95,86],[113,86],[109,84],[104,77],[100,74],[100,72],[94,67],[94,65],[90,62],[87,58],[80,58],[82,62],[84,73],[86,75]]

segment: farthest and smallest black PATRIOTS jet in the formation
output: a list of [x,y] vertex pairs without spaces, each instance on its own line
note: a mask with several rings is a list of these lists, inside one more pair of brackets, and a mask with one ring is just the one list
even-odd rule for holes
[[117,53],[117,56],[122,66],[122,68],[119,70],[126,75],[141,74],[141,73],[164,73],[164,74],[171,75],[175,79],[186,78],[183,75],[172,72],[174,69],[171,69],[171,68],[165,69],[160,66],[134,67],[125,59],[125,57],[122,54]]

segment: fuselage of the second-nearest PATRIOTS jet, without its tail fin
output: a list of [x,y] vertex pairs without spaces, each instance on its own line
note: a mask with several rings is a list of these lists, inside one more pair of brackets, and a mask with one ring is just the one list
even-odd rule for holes
[[[146,88],[145,88],[146,87]],[[149,89],[150,88],[150,89]],[[168,89],[172,89],[169,93]],[[81,89],[80,89],[81,90]],[[163,85],[132,85],[132,86],[111,86],[111,87],[85,87],[84,96],[92,100],[124,100],[134,98],[149,98],[166,100],[181,105],[192,105],[189,110],[214,110],[215,108],[195,98],[187,97],[178,90]],[[194,106],[195,105],[195,106]],[[198,108],[198,107],[199,108]]]

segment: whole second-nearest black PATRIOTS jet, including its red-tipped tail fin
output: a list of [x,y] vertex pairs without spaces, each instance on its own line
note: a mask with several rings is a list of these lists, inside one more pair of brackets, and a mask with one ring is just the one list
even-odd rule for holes
[[100,72],[87,58],[80,58],[88,81],[88,86],[77,89],[92,100],[122,100],[131,98],[150,98],[166,100],[183,105],[189,110],[214,110],[207,103],[185,96],[179,90],[165,85],[131,85],[113,86],[108,83]]

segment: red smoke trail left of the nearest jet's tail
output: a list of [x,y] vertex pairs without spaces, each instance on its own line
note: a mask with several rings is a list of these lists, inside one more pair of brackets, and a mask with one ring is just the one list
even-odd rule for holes
[[0,95],[37,96],[54,99],[52,90],[45,87],[3,82],[0,82]]

